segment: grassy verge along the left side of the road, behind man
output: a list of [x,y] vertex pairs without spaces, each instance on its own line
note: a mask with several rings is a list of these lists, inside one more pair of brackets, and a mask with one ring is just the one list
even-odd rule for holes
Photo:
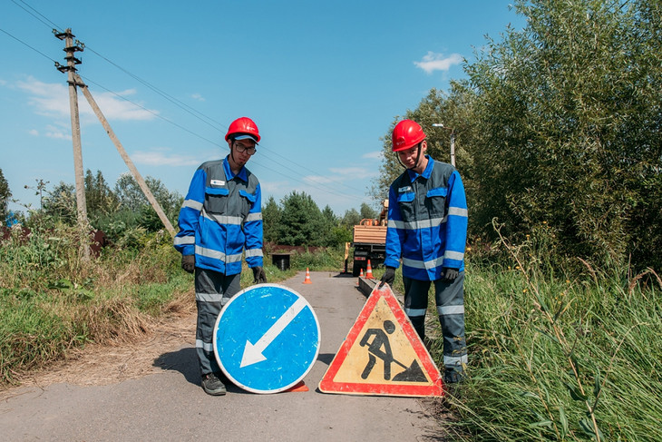
[[[144,333],[170,303],[194,300],[193,276],[180,269],[167,233],[133,229],[90,262],[77,243],[77,231],[58,224],[0,244],[0,386],[73,347]],[[338,270],[342,256],[338,250],[295,254],[285,271],[267,261],[268,281],[278,282],[306,268]],[[252,283],[244,263],[241,287]]]

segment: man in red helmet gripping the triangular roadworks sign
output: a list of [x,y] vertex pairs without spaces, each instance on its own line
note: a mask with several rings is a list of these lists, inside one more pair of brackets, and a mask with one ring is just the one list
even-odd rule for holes
[[393,152],[406,169],[389,190],[385,274],[393,284],[402,259],[404,312],[425,341],[428,290],[434,283],[443,334],[443,378],[464,377],[464,246],[467,203],[460,173],[426,155],[423,128],[412,120],[394,127]]

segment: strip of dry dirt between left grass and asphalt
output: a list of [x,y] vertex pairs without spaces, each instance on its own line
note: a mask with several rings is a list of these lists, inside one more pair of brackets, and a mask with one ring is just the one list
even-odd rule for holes
[[[104,345],[87,344],[72,349],[38,371],[15,374],[18,387],[44,388],[55,383],[79,386],[108,385],[161,371],[154,361],[173,348],[195,346],[195,301],[192,294],[174,300],[159,319],[152,319],[141,334],[122,335]],[[16,387],[0,389],[0,398]]]

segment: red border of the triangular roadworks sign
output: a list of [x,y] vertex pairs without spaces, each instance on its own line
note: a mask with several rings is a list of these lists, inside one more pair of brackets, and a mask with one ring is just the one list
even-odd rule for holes
[[[411,321],[404,314],[404,310],[400,306],[398,300],[395,299],[393,291],[385,285],[383,289],[377,289],[379,282],[375,285],[375,289],[368,300],[365,301],[364,308],[361,310],[361,313],[358,315],[354,326],[349,330],[343,345],[340,347],[336,356],[331,361],[326,374],[319,381],[319,390],[323,393],[346,393],[346,394],[374,394],[374,395],[385,395],[385,396],[415,396],[415,397],[426,397],[426,396],[443,396],[443,381],[442,375],[439,372],[439,369],[434,365],[433,359],[428,353],[427,349],[423,346],[423,342],[419,338],[418,334],[414,330]],[[358,334],[365,326],[365,322],[370,315],[372,314],[377,301],[381,298],[384,298],[386,304],[389,306],[393,312],[395,319],[397,319],[400,326],[403,328],[404,335],[409,339],[409,342],[412,344],[414,351],[421,363],[423,364],[423,369],[427,375],[432,379],[432,385],[398,385],[398,384],[374,384],[374,383],[360,383],[360,382],[335,382],[333,379],[336,377],[336,374],[340,367],[342,367],[349,350],[355,344],[356,339],[358,339]]]

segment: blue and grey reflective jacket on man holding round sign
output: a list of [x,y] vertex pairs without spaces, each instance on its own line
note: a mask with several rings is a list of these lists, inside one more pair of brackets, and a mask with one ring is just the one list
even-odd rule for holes
[[237,175],[228,158],[200,165],[180,210],[175,249],[195,253],[195,265],[226,275],[262,266],[262,196],[258,178],[242,168]]

